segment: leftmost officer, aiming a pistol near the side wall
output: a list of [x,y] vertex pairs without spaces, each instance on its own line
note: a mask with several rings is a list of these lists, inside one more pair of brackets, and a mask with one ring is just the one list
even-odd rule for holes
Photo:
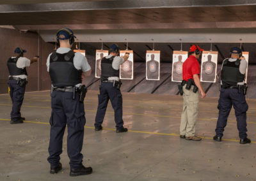
[[33,62],[36,62],[38,59],[38,56],[33,57],[31,60],[23,57],[25,52],[27,51],[17,47],[14,50],[15,57],[10,57],[7,62],[9,70],[8,85],[12,99],[11,124],[20,124],[25,120],[24,117],[21,117],[20,108],[23,103],[27,83],[28,73],[26,67],[29,67],[30,64],[33,64]]

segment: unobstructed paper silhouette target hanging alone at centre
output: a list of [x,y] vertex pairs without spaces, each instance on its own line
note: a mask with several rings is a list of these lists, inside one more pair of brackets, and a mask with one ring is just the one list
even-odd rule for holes
[[146,80],[160,80],[160,51],[147,51]]

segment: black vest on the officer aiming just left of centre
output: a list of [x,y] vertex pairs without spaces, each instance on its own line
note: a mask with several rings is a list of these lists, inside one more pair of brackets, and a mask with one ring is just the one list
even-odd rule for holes
[[101,60],[101,80],[108,80],[110,76],[119,77],[120,69],[113,69],[112,63],[115,56],[110,58],[103,57]]

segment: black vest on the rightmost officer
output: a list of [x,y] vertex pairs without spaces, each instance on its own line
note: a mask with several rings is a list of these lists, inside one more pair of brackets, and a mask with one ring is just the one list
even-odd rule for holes
[[244,75],[239,71],[241,60],[237,59],[234,62],[228,60],[229,59],[224,60],[221,69],[221,82],[223,87],[237,85],[238,82],[243,82],[244,80]]

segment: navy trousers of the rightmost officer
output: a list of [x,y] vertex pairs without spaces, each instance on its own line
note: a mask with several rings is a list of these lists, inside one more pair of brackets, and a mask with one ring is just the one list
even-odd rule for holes
[[216,135],[219,137],[223,136],[223,131],[227,125],[228,115],[232,108],[232,105],[235,110],[236,120],[237,120],[237,129],[239,131],[240,138],[247,137],[246,129],[246,111],[248,110],[248,105],[245,100],[243,91],[239,94],[238,89],[223,89],[220,91],[220,99],[218,104],[219,117],[216,126]]

